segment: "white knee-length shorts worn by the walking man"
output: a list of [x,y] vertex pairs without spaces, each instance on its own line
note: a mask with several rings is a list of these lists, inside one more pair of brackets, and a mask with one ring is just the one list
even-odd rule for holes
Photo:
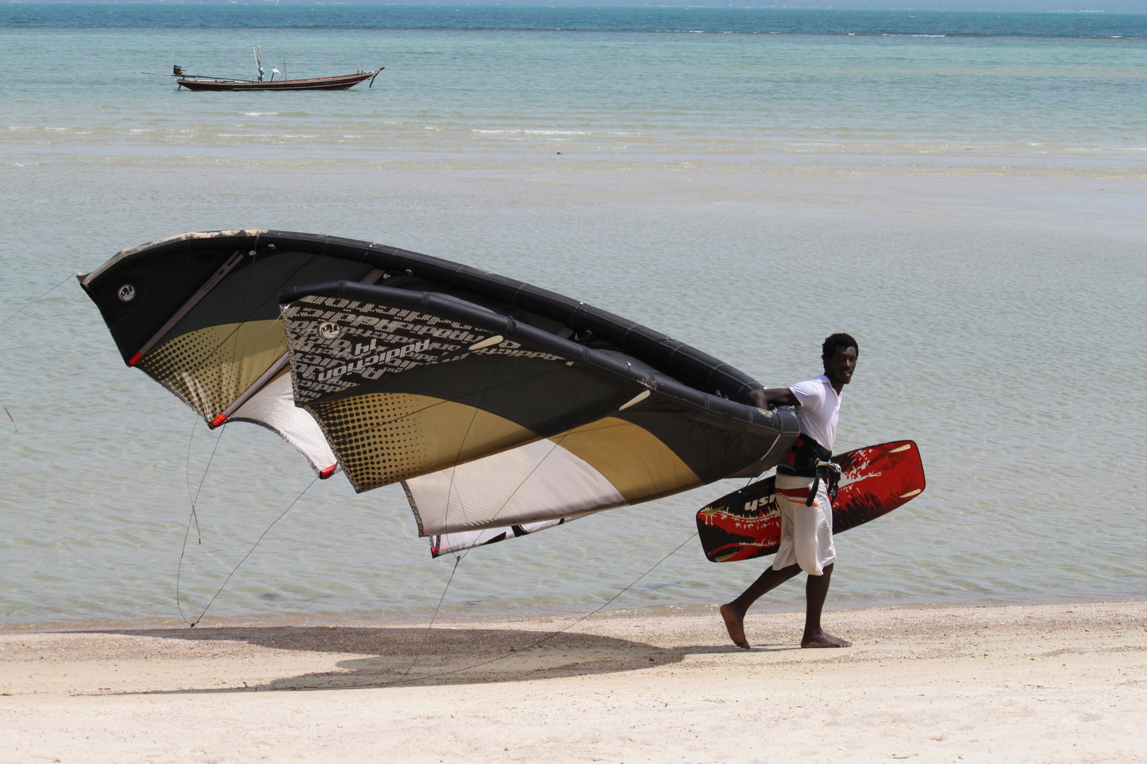
[[812,506],[805,506],[812,478],[777,475],[777,507],[781,511],[781,545],[773,559],[773,569],[794,562],[810,576],[824,574],[825,566],[836,560],[833,545],[833,505],[828,487],[820,481]]

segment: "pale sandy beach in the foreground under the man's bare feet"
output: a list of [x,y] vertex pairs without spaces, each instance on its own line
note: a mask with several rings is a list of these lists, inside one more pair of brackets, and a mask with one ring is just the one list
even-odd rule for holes
[[1147,761],[1147,601],[801,622],[10,630],[0,761]]

